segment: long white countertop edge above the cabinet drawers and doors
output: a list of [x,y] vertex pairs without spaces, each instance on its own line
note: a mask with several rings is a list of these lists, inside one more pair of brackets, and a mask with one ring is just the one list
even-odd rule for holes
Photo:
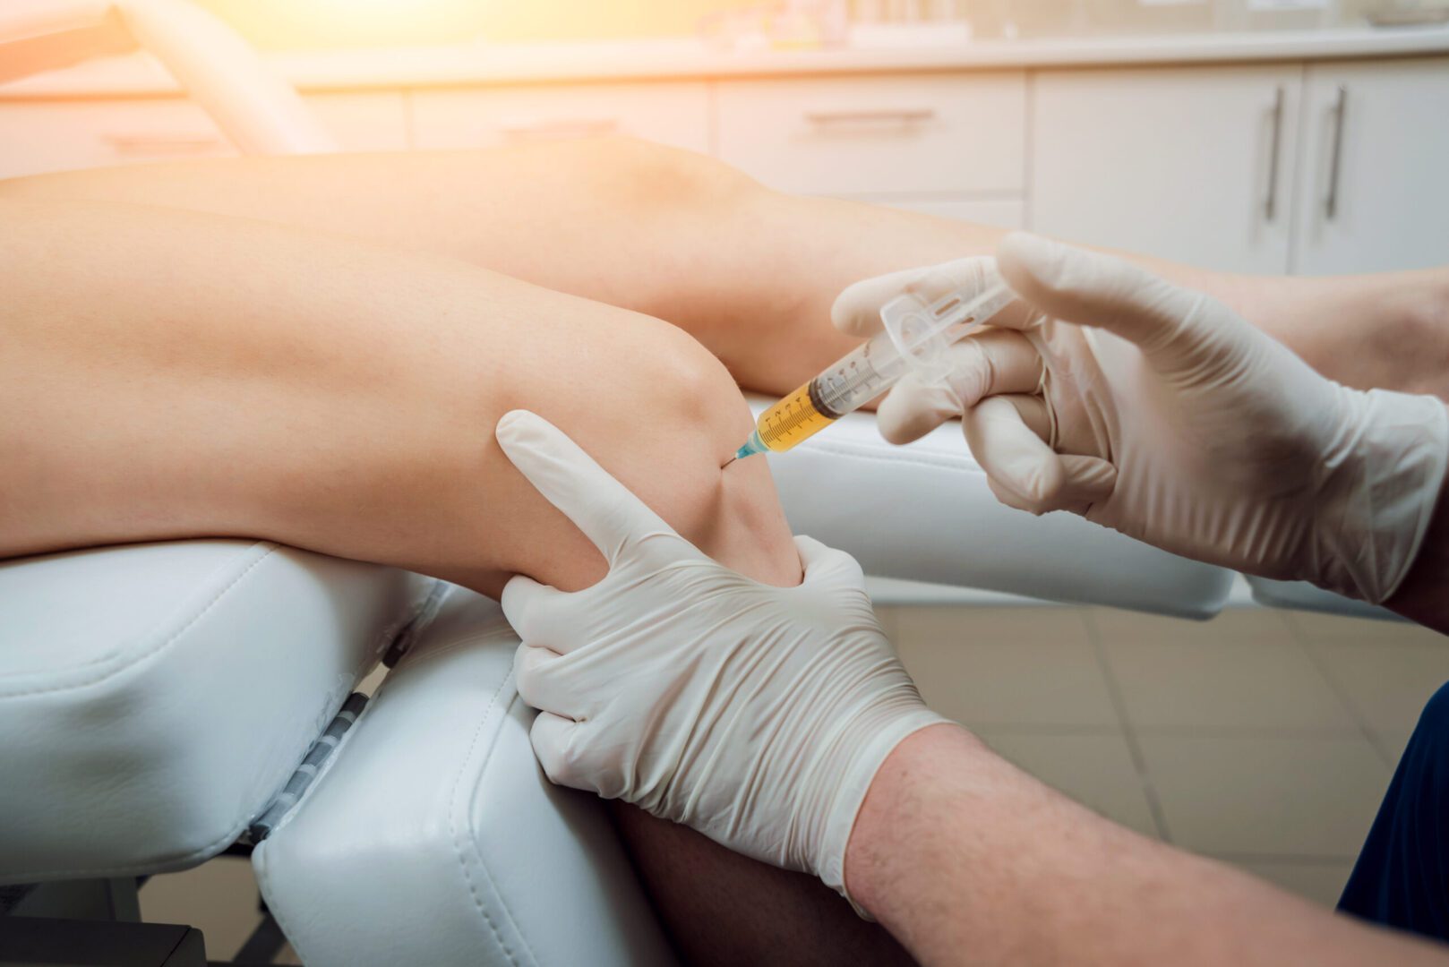
[[[288,51],[268,54],[301,90],[446,84],[709,80],[797,74],[969,71],[1449,55],[1449,28],[972,41],[839,51],[713,49],[693,38],[554,45]],[[0,97],[171,94],[146,54],[110,57],[0,86]]]

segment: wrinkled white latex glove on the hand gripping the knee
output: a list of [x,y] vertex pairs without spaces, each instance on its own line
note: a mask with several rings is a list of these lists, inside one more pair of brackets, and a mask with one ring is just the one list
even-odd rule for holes
[[582,592],[527,577],[503,592],[548,777],[845,893],[875,771],[943,721],[881,632],[855,558],[796,538],[804,581],[761,584],[701,554],[542,418],[511,412],[497,436],[609,563]]

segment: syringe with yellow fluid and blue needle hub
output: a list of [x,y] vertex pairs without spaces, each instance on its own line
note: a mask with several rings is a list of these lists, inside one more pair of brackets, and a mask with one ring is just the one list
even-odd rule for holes
[[[910,294],[885,303],[881,309],[885,332],[761,413],[755,432],[736,451],[735,460],[782,454],[803,444],[895,386],[911,370],[945,375],[946,348],[1016,299],[994,267],[982,274],[984,278],[969,287],[978,293],[975,296],[952,289],[932,303]],[[929,287],[930,280],[926,284]]]

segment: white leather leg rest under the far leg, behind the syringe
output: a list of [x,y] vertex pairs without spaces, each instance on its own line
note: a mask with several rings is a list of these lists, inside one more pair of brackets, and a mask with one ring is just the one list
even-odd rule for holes
[[1001,505],[959,423],[891,447],[874,413],[852,413],[768,460],[791,529],[849,551],[867,574],[1184,618],[1216,615],[1232,589],[1230,571]]

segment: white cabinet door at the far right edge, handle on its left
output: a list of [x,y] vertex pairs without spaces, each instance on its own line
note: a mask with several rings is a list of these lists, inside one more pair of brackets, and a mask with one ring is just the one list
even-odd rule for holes
[[1449,264],[1449,58],[1308,68],[1294,271]]

